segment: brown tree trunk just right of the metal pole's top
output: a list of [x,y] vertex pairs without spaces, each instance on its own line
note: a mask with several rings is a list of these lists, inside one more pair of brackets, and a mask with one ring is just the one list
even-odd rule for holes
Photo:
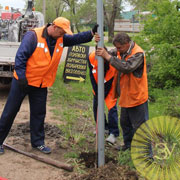
[[122,10],[122,0],[105,0],[104,1],[104,18],[108,26],[108,42],[112,42],[114,37],[115,18]]

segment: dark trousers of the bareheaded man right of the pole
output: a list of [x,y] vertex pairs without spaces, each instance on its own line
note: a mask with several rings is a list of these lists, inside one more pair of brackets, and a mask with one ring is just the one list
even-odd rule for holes
[[131,108],[121,108],[120,124],[123,131],[124,144],[131,146],[135,131],[149,119],[148,102]]

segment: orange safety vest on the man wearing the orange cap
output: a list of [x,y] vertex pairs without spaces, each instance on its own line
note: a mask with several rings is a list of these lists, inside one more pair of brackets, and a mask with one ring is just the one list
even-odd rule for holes
[[[58,38],[51,57],[46,39],[42,37],[44,27],[35,28],[37,47],[26,64],[28,85],[35,87],[50,87],[53,85],[56,72],[63,52],[63,38]],[[16,71],[14,77],[18,79]]]

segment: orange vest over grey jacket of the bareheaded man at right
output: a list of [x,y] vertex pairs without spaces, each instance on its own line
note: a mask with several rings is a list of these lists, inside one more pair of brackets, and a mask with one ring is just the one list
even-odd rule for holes
[[[127,61],[132,55],[144,51],[135,44],[134,48],[131,51],[131,54],[128,55],[125,60]],[[118,58],[121,59],[121,56],[118,55]],[[113,83],[113,97],[117,97],[116,84],[117,84],[118,71],[115,72],[115,80]],[[148,100],[148,82],[147,82],[147,72],[146,72],[146,57],[144,56],[144,68],[143,75],[141,78],[135,77],[133,72],[124,74],[121,73],[120,76],[120,98],[119,105],[121,107],[135,107],[140,104],[145,103]]]

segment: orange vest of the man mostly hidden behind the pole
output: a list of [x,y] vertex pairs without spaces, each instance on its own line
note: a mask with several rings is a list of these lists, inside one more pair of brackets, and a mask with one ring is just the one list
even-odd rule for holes
[[[98,61],[95,58],[95,51],[89,55],[89,61],[90,61],[90,64],[93,66],[92,74],[94,76],[94,79],[95,79],[96,83],[98,83]],[[106,75],[104,77],[104,83],[106,83],[107,81],[111,80],[114,77],[114,72],[115,72],[115,68],[112,67],[111,65],[109,65],[109,70],[106,72]],[[94,91],[93,91],[93,93],[94,93]],[[110,110],[112,107],[114,107],[117,102],[117,99],[112,98],[112,93],[113,93],[113,88],[111,86],[110,91],[105,98],[105,103],[106,103],[108,110]]]

